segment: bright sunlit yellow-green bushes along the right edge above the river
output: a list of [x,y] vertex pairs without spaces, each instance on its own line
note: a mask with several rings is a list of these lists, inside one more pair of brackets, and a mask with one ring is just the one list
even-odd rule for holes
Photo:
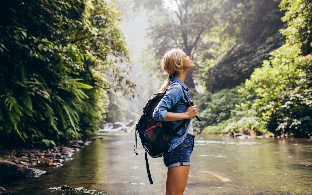
[[311,50],[311,42],[307,44],[311,41],[311,32],[306,31],[311,27],[311,2],[282,1],[281,8],[287,10],[283,20],[288,22],[288,27],[281,30],[286,43],[271,52],[271,59],[264,61],[250,80],[246,80],[245,87],[239,90],[246,99],[237,107],[256,113],[275,134],[309,137],[312,134],[312,56],[305,54]]

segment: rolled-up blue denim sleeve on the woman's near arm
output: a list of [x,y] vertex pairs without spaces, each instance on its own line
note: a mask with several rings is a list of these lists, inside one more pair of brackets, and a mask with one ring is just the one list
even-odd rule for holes
[[182,96],[182,86],[178,83],[173,83],[169,86],[166,94],[160,100],[153,112],[153,119],[157,122],[165,120],[170,110]]

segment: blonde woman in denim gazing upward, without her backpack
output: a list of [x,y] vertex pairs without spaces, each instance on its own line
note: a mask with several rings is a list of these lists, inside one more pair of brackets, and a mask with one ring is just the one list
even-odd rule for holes
[[183,194],[191,165],[190,156],[194,148],[192,118],[197,115],[197,106],[188,107],[182,87],[191,101],[188,87],[183,82],[187,72],[195,65],[192,57],[187,56],[179,48],[167,51],[163,55],[161,65],[169,77],[163,82],[160,92],[164,92],[167,87],[168,90],[155,108],[153,119],[169,121],[170,129],[175,129],[184,119],[188,119],[170,141],[168,152],[163,156],[163,161],[168,168],[165,194]]

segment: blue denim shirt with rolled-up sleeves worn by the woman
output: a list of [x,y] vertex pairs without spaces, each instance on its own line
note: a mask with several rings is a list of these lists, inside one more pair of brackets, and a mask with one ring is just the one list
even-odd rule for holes
[[[170,84],[171,85],[168,86],[166,94],[163,96],[157,107],[154,109],[153,119],[157,122],[162,122],[167,117],[168,112],[186,111],[188,105],[187,100],[184,97],[182,87],[185,89],[185,93],[188,96],[188,99],[192,101],[188,93],[188,87],[180,79],[178,79],[177,77],[173,77],[172,79],[170,79]],[[170,152],[172,149],[174,149],[183,142],[188,133],[190,121],[191,119],[188,119],[185,125],[178,130],[178,136],[174,136],[173,139],[170,141],[170,147],[168,149],[168,152]],[[183,120],[168,121],[168,128],[175,129],[181,124],[181,122],[183,122]]]

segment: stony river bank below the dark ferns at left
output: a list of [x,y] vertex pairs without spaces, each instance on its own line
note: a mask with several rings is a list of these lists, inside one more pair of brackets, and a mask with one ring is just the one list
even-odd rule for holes
[[[102,125],[102,129],[114,129],[115,131],[130,131],[134,121],[115,122]],[[45,174],[45,170],[33,168],[36,165],[40,167],[59,168],[64,162],[72,160],[72,155],[91,143],[91,140],[103,139],[99,129],[96,136],[91,139],[78,140],[61,144],[48,149],[29,149],[14,148],[0,149],[0,181],[18,181],[22,178],[39,178]],[[71,190],[73,188],[63,185],[62,190]],[[5,188],[0,185],[0,195],[8,194]]]

